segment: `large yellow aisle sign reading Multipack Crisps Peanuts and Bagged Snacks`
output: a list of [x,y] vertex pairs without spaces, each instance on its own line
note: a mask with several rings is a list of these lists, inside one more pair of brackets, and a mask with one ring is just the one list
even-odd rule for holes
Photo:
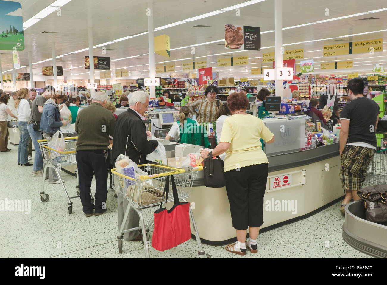
[[378,38],[373,40],[324,45],[323,56],[328,57],[347,54],[365,54],[369,52],[381,51],[383,51],[383,38]]

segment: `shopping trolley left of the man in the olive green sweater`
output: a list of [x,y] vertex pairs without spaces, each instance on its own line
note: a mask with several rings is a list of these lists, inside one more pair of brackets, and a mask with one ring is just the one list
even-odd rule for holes
[[[42,202],[48,202],[50,199],[50,195],[45,193],[45,180],[46,180],[46,173],[48,171],[48,168],[55,169],[55,173],[57,173],[60,184],[62,184],[63,190],[67,197],[67,205],[68,205],[68,213],[72,213],[72,202],[70,199],[78,198],[79,196],[79,190],[77,190],[77,196],[69,197],[66,187],[63,184],[62,178],[60,177],[59,171],[62,169],[62,166],[68,166],[68,165],[74,165],[77,164],[77,161],[75,159],[75,149],[77,144],[77,136],[70,137],[70,138],[64,138],[65,140],[65,149],[63,151],[59,151],[56,149],[52,149],[48,147],[48,143],[51,141],[51,138],[47,138],[46,140],[38,140],[39,147],[42,152],[43,161],[45,162],[45,168],[43,169],[43,185],[42,185],[42,191],[40,192],[40,199]],[[77,186],[76,188],[79,188],[79,178],[77,176]],[[91,195],[91,194],[90,194]],[[94,202],[94,198],[91,196],[91,202]]]

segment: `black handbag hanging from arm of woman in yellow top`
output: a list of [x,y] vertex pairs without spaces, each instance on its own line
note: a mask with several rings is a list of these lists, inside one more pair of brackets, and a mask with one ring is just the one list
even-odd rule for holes
[[213,188],[226,186],[227,180],[224,175],[223,160],[219,156],[213,159],[212,152],[208,155],[209,157],[205,158],[203,162],[204,186]]

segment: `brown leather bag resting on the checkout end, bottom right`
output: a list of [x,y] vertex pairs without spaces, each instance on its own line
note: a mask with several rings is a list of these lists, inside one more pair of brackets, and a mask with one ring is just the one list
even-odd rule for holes
[[357,193],[364,200],[366,220],[378,224],[387,223],[387,185],[368,186]]

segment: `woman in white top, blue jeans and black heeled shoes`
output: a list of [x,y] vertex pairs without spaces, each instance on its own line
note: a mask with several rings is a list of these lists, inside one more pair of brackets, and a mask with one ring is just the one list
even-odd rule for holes
[[17,163],[22,166],[32,166],[33,164],[28,162],[28,140],[30,138],[27,130],[27,122],[29,115],[31,114],[31,108],[29,102],[26,100],[28,94],[27,88],[22,88],[17,93],[18,99],[15,101],[15,108],[19,116],[19,122],[17,128],[19,128],[19,148],[17,151]]

